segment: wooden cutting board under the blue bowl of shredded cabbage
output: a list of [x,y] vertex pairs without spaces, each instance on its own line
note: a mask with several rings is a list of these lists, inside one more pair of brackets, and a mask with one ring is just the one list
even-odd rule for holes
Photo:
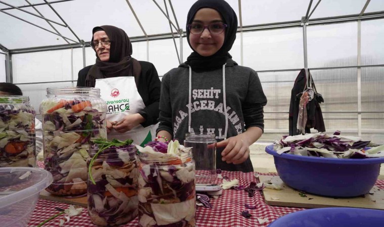
[[384,210],[384,190],[374,186],[365,197],[331,198],[305,193],[302,197],[299,191],[285,185],[278,176],[259,176],[260,182],[270,180],[280,185],[282,190],[263,189],[265,203],[272,206],[293,206],[304,208],[319,207],[360,207]]

